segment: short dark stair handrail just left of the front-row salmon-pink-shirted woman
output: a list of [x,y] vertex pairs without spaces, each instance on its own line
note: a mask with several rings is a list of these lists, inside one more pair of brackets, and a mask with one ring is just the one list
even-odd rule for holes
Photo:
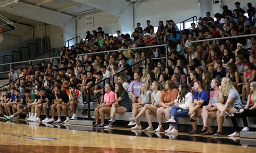
[[[102,81],[99,81],[99,82],[97,82],[97,84],[93,84],[91,87],[89,87],[89,88],[87,88],[87,89],[85,89],[85,91],[83,92],[83,97],[84,97],[84,93],[86,92],[86,91],[88,91],[88,101],[86,101],[86,102],[84,102],[84,104],[88,104],[88,111],[87,111],[87,113],[88,113],[88,119],[91,119],[91,115],[90,115],[90,111],[91,111],[91,109],[90,109],[90,102],[92,102],[92,100],[95,100],[95,99],[97,99],[97,98],[99,98],[100,96],[102,96],[102,95],[104,95],[105,94],[105,91],[104,91],[104,87],[105,87],[105,81],[106,80],[109,80],[109,84],[110,84],[110,79],[109,78],[105,78],[105,79],[103,79]],[[103,82],[103,94],[100,94],[100,95],[98,95],[98,96],[96,96],[94,99],[91,99],[91,88],[92,87],[95,87],[96,85],[98,85],[98,84],[100,84],[101,82]]]

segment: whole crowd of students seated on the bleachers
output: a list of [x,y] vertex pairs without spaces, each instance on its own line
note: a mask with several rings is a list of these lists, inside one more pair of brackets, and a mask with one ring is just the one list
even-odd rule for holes
[[[66,116],[63,123],[68,123],[77,119],[76,109],[85,109],[83,101],[90,100],[89,95],[105,93],[97,99],[95,127],[112,128],[116,113],[132,112],[129,126],[134,126],[134,130],[142,129],[139,119],[145,115],[149,123],[145,130],[152,131],[150,115],[155,115],[159,126],[154,131],[178,133],[179,117],[190,117],[190,134],[213,134],[209,119],[217,119],[218,131],[214,136],[221,136],[225,117],[231,118],[235,127],[229,136],[239,136],[235,118],[242,117],[245,126],[242,130],[247,131],[246,116],[255,116],[256,111],[256,37],[191,43],[255,34],[252,4],[248,3],[249,18],[244,16],[239,2],[235,7],[232,15],[232,11],[223,6],[223,14],[215,14],[215,22],[207,12],[197,27],[192,23],[192,31],[182,33],[173,20],[166,20],[165,26],[159,21],[156,33],[150,20],[146,21],[145,29],[137,23],[131,36],[117,31],[118,36],[112,37],[104,33],[102,27],[93,34],[88,31],[85,40],[70,50],[69,47],[53,48],[53,56],[60,56],[61,61],[53,60],[48,65],[40,62],[38,69],[28,65],[18,69],[18,73],[12,68],[10,85],[2,89],[1,113],[6,119],[19,119],[25,112],[26,120],[41,122],[44,110],[46,117],[42,122],[62,123],[63,111]],[[169,60],[153,60],[163,57],[165,51],[154,45],[165,43]],[[143,46],[152,47],[134,49]],[[113,51],[124,48],[129,50]],[[111,52],[100,53],[102,51]],[[98,54],[90,54],[95,52]],[[242,108],[242,104],[246,106]],[[68,110],[73,114],[71,119]],[[104,114],[110,114],[107,125]],[[166,130],[162,126],[163,115],[170,124]],[[201,131],[197,130],[197,118],[204,121]]]

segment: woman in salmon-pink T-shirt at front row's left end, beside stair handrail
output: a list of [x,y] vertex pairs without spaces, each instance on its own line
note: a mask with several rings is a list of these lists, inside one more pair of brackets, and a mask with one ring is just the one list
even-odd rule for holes
[[[105,113],[110,114],[111,106],[113,102],[115,102],[114,92],[111,91],[111,86],[109,84],[106,84],[104,90],[106,93],[104,94],[103,103],[97,105],[97,107],[95,108],[96,123],[93,125],[93,127],[104,127]],[[99,117],[102,121],[100,124]]]

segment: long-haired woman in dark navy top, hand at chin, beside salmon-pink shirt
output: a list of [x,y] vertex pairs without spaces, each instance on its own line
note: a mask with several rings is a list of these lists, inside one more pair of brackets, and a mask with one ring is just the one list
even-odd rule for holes
[[123,114],[125,112],[132,111],[129,94],[125,91],[123,85],[120,82],[117,82],[114,87],[114,100],[116,102],[114,102],[111,106],[109,124],[107,126],[104,126],[104,128],[113,128],[113,122],[116,122],[116,120],[114,119],[116,113]]

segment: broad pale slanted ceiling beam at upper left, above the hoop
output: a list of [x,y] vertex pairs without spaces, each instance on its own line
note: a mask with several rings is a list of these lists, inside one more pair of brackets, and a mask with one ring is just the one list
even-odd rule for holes
[[44,9],[35,5],[18,2],[15,5],[0,7],[1,11],[9,12],[17,16],[37,20],[39,22],[63,27],[74,17],[64,13]]

